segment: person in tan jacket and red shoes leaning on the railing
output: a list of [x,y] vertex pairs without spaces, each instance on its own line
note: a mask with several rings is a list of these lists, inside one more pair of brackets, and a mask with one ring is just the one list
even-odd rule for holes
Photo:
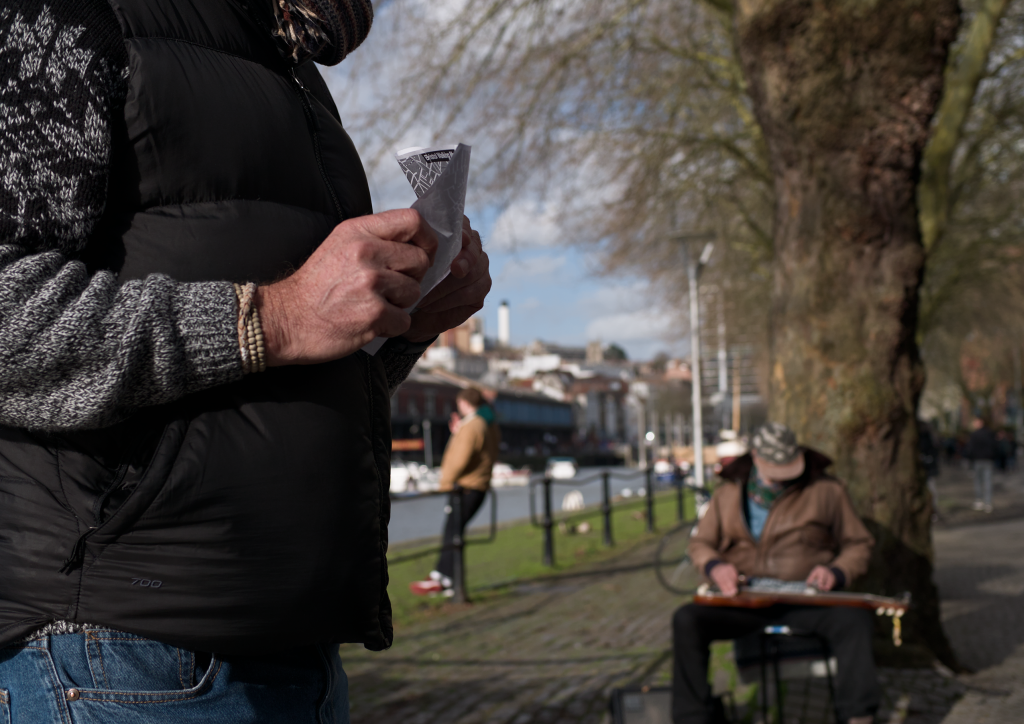
[[[419,595],[440,593],[451,596],[454,593],[455,551],[452,544],[456,531],[465,536],[466,525],[483,505],[490,487],[492,469],[498,461],[501,433],[495,422],[495,411],[480,390],[474,387],[462,390],[456,397],[456,407],[459,416],[453,416],[452,437],[441,459],[441,489],[450,492],[443,548],[437,567],[430,571],[430,577],[411,585],[413,593]],[[456,496],[459,497],[461,516],[454,514],[452,503]]]

